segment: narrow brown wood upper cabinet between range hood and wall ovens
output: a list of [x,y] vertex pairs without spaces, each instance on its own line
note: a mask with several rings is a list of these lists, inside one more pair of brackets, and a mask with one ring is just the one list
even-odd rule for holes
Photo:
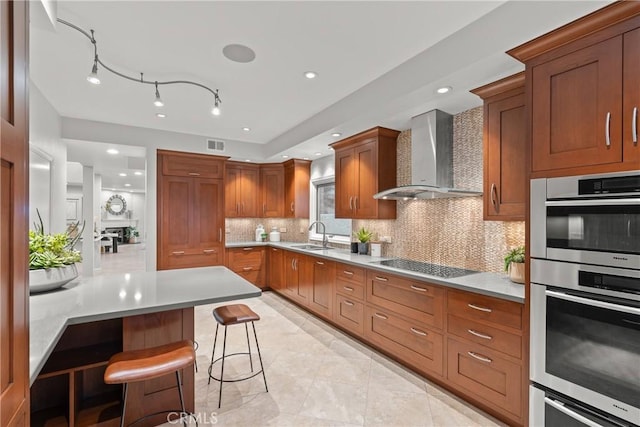
[[484,219],[524,220],[524,73],[472,90],[484,100]]

